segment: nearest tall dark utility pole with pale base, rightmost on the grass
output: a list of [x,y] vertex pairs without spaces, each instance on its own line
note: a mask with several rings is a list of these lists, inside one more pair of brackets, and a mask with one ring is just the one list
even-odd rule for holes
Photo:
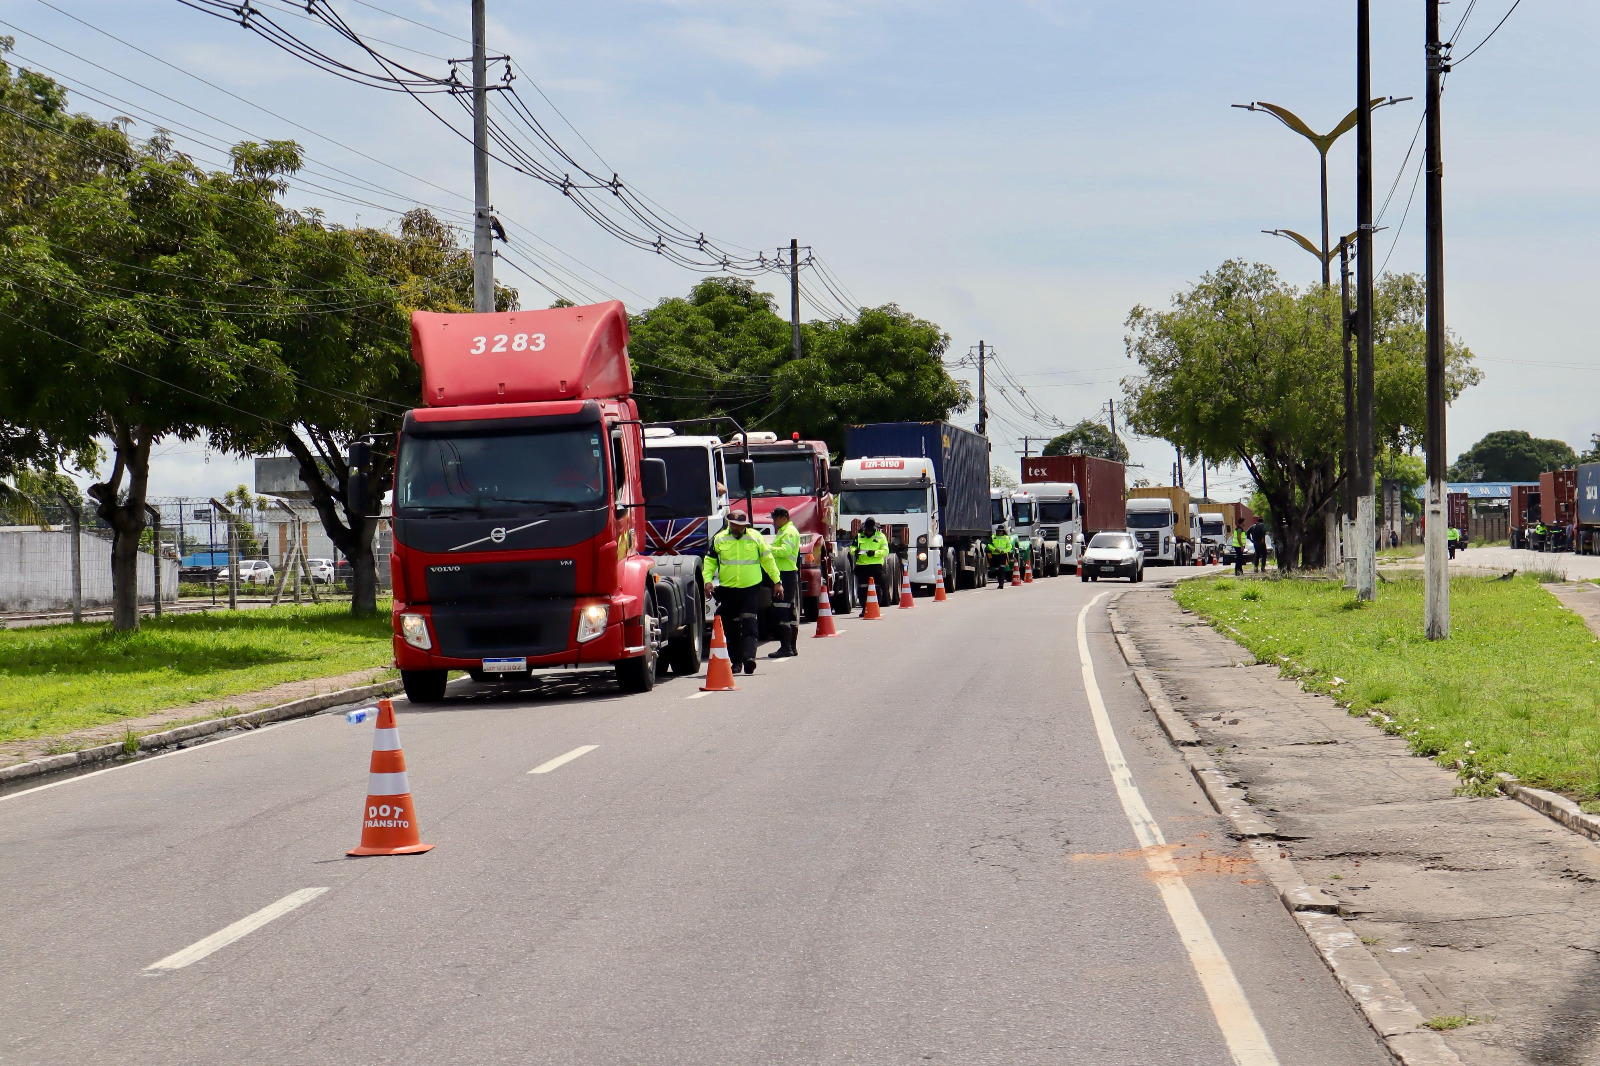
[[1450,565],[1445,533],[1445,160],[1438,98],[1450,64],[1438,40],[1438,0],[1427,0],[1427,530],[1422,547],[1427,639],[1450,635]]

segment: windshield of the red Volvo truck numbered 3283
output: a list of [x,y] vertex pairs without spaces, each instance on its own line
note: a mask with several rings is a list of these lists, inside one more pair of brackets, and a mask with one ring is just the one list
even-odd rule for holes
[[400,440],[395,509],[496,509],[506,504],[597,507],[606,499],[598,426],[461,432]]

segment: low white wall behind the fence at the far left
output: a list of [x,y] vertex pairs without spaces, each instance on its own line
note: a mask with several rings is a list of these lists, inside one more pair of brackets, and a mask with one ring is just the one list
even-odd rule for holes
[[[110,605],[110,541],[80,535],[83,605]],[[139,552],[139,602],[155,599],[155,565]],[[178,600],[178,560],[162,560],[162,602]],[[0,611],[72,610],[72,533],[0,527]]]

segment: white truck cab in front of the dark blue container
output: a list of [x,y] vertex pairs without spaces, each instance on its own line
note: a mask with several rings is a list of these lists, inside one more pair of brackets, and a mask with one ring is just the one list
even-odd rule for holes
[[[894,555],[904,559],[899,579],[910,581],[914,594],[933,595],[944,554],[933,459],[845,459],[838,472],[838,528],[854,535],[867,519],[877,520]],[[896,567],[890,567],[885,573],[894,570]],[[890,597],[899,595],[899,579],[886,578],[890,587],[878,589],[880,600],[886,603]]]

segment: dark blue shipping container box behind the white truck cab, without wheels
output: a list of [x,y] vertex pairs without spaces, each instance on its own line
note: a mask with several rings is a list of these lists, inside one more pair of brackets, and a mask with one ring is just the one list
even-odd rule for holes
[[942,490],[944,536],[989,536],[989,439],[950,423],[872,423],[845,429],[845,458],[926,456]]

